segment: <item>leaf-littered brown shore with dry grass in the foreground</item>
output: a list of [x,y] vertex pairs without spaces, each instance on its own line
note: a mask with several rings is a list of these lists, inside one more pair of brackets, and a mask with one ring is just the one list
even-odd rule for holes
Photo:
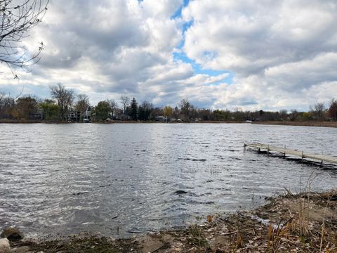
[[337,189],[299,194],[286,190],[249,212],[207,216],[188,228],[128,239],[80,234],[39,240],[16,235],[13,240],[8,235],[1,236],[8,237],[10,248],[0,245],[1,253],[337,252]]

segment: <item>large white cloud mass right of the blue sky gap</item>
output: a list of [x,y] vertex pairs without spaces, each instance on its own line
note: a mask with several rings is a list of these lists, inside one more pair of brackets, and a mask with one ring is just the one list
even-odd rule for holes
[[[193,21],[187,56],[236,74],[213,105],[305,110],[337,96],[324,85],[337,80],[336,1],[195,0],[183,18]],[[311,94],[312,86],[322,91]]]

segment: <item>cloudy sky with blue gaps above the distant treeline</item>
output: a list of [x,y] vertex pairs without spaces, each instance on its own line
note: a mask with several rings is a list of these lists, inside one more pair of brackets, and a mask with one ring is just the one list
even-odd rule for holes
[[20,79],[1,64],[0,91],[308,110],[337,98],[336,24],[336,0],[51,0],[22,41],[41,60]]

